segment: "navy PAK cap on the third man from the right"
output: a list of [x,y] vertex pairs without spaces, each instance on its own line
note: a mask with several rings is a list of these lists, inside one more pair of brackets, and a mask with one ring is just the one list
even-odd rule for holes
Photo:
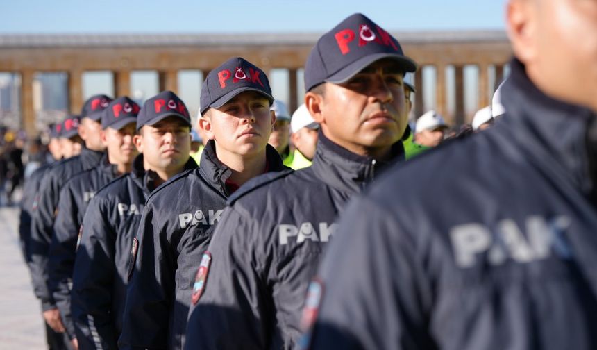
[[209,108],[224,106],[244,91],[260,92],[270,103],[274,102],[265,72],[242,57],[230,58],[216,69],[212,69],[203,81],[201,115]]

